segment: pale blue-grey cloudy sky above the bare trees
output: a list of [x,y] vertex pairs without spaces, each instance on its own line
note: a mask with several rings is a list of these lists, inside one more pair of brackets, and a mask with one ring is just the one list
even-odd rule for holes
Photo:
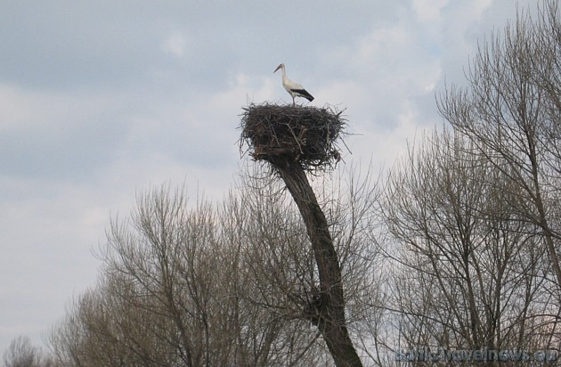
[[346,109],[347,165],[388,167],[442,126],[444,77],[464,83],[477,42],[516,14],[512,0],[0,4],[0,354],[40,343],[95,284],[110,217],[139,192],[184,182],[221,200],[241,108],[291,102],[280,62],[313,106]]

